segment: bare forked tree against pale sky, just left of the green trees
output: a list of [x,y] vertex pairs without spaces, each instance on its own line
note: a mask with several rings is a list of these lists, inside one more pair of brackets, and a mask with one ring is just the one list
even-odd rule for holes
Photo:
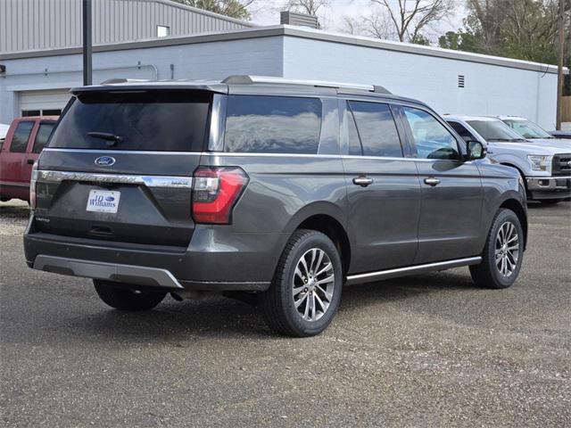
[[397,6],[390,0],[371,1],[388,12],[398,40],[412,43],[426,41],[422,30],[442,20],[453,7],[452,0],[398,0]]

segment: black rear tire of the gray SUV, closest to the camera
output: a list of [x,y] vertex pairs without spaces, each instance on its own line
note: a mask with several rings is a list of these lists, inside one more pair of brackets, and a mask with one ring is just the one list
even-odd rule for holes
[[[316,275],[315,278],[317,278],[317,281],[311,278],[313,274],[319,274],[319,272],[311,272],[307,287],[299,292],[299,294],[295,294],[294,288],[299,289],[305,287],[302,277],[296,274],[296,267],[298,263],[302,262],[302,257],[311,257],[313,253],[310,251],[313,251],[313,249],[323,251],[332,266],[327,269],[327,272]],[[319,259],[319,255],[321,254],[320,251],[318,251],[317,259]],[[327,260],[325,256],[323,256],[323,259],[319,259],[321,264],[319,264],[318,260],[315,260],[314,265],[311,259],[309,259],[309,264],[312,266],[318,265],[315,270],[320,271],[327,267],[328,262],[323,260]],[[309,266],[308,270],[312,270],[312,266]],[[326,285],[319,283],[322,283],[324,279],[329,279],[331,274],[333,274],[333,280],[327,283],[327,290],[325,291],[329,292],[329,290],[332,290],[332,295],[330,299],[327,300],[327,293],[324,291]],[[327,275],[327,278],[324,278],[324,275]],[[308,290],[308,287],[310,290]],[[332,288],[330,289],[329,287]],[[276,274],[272,284],[266,292],[262,292],[259,296],[261,313],[266,319],[269,328],[275,333],[294,337],[314,336],[323,332],[323,330],[327,328],[327,325],[331,323],[339,307],[342,288],[343,269],[335,244],[327,235],[318,231],[297,230],[287,245],[285,245],[285,250],[277,264]],[[315,293],[315,295],[313,295],[313,293]],[[305,296],[305,300],[303,300],[302,296]],[[315,319],[307,320],[304,319],[304,316],[307,317],[309,315],[309,317],[311,317],[311,310],[305,310],[305,312],[308,313],[307,315],[300,313],[295,307],[294,299],[302,300],[299,306],[300,311],[303,311],[307,305],[310,306],[310,309],[314,307],[317,308],[317,306],[315,306],[316,304],[320,306],[321,309],[325,308],[323,303],[319,305],[319,302],[327,303],[328,301],[328,306],[322,311],[319,311],[319,308],[317,308],[313,311],[313,317],[315,317]],[[313,301],[313,303],[311,303],[311,301]]]

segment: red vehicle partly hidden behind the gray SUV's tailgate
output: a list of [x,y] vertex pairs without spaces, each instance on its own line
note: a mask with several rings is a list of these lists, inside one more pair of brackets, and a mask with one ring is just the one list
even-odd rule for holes
[[12,121],[0,150],[0,200],[29,201],[32,165],[52,134],[57,116],[18,118]]

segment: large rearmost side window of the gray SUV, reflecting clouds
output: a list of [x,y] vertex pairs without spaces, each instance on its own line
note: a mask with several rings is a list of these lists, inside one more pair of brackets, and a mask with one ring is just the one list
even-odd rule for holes
[[230,95],[226,152],[318,152],[321,101],[285,96]]

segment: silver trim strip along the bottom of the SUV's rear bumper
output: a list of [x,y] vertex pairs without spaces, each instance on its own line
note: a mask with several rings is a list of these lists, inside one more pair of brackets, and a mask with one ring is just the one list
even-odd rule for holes
[[[167,269],[146,266],[120,265],[102,261],[68,259],[39,254],[34,260],[34,269],[55,274],[82,276],[119,283],[147,285],[164,288],[184,288]],[[135,283],[131,283],[134,281]]]

